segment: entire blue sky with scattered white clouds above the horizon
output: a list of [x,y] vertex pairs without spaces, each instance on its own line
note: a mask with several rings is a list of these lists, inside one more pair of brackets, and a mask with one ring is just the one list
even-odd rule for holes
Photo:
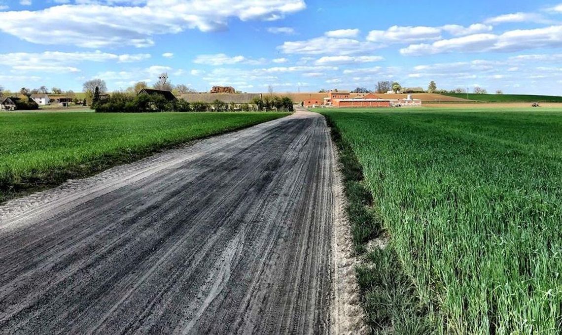
[[[560,0],[559,0],[560,1]],[[0,0],[0,85],[562,94],[562,2]]]

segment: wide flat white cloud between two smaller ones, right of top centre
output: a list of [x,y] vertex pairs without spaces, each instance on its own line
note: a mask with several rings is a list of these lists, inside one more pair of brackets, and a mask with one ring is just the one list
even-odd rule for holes
[[358,55],[379,48],[377,44],[350,38],[317,37],[309,40],[285,42],[278,49],[297,55]]

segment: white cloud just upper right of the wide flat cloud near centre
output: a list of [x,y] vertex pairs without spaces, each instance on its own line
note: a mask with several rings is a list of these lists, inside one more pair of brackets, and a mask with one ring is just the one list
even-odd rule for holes
[[441,38],[441,29],[427,26],[392,26],[387,30],[371,30],[367,40],[377,43],[411,43]]

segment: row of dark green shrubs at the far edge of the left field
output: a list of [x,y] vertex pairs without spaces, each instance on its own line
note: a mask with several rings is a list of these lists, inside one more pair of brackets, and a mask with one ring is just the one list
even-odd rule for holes
[[98,113],[146,113],[146,112],[234,112],[234,111],[293,111],[293,101],[289,97],[266,96],[252,103],[225,103],[215,100],[207,102],[187,102],[184,99],[168,101],[160,94],[113,93],[107,99],[92,104]]

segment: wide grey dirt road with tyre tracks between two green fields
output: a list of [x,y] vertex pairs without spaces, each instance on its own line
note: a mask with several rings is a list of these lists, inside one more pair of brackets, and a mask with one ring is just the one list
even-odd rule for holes
[[7,203],[0,331],[334,332],[333,160],[299,112]]

